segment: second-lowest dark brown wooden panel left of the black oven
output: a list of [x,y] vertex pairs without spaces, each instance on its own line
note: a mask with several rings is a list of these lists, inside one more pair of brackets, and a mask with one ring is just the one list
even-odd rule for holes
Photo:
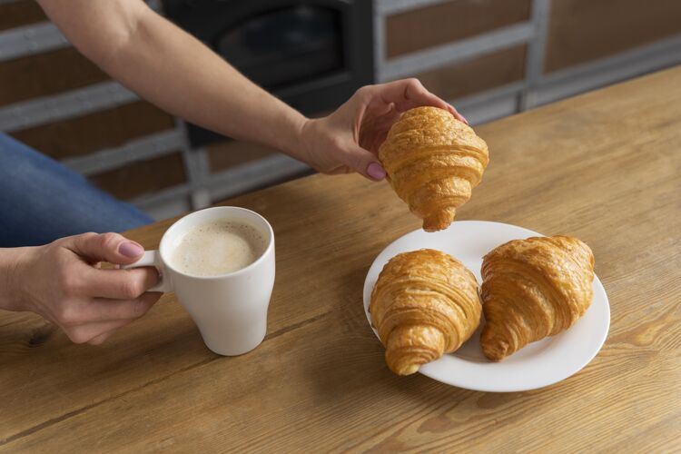
[[171,115],[139,101],[15,131],[11,135],[54,159],[64,159],[120,146],[134,138],[173,128]]

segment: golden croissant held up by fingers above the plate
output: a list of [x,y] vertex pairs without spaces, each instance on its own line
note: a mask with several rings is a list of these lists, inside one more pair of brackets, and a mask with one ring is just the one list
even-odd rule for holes
[[489,163],[487,143],[468,124],[437,107],[402,114],[380,145],[387,179],[423,230],[445,229],[468,202]]

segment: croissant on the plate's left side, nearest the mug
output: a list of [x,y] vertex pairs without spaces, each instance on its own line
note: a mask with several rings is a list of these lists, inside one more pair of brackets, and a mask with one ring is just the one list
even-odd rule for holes
[[444,252],[403,252],[380,271],[369,309],[388,367],[409,375],[457,350],[478,328],[478,281]]

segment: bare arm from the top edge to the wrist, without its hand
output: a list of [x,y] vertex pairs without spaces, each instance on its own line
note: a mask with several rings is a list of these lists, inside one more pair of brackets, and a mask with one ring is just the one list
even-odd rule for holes
[[[86,11],[102,5],[87,1],[74,2],[76,5],[43,3],[48,14],[54,13],[51,17],[64,35],[108,74],[171,114],[299,157],[303,115],[252,84],[204,44],[146,5],[122,1],[108,17],[91,20],[92,15],[107,13]],[[110,5],[104,8],[113,9]],[[65,10],[73,15],[63,17]],[[125,17],[115,20],[111,15]],[[121,26],[124,34],[114,30]]]

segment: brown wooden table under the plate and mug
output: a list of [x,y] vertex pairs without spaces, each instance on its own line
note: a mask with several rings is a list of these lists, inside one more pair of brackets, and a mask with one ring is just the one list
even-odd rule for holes
[[[165,295],[103,346],[0,314],[0,449],[609,452],[681,449],[681,68],[478,128],[491,163],[458,219],[587,242],[603,350],[541,390],[400,378],[362,311],[370,263],[419,227],[387,183],[312,176],[226,201],[277,238],[269,331],[223,358]],[[155,248],[172,221],[129,232]]]

